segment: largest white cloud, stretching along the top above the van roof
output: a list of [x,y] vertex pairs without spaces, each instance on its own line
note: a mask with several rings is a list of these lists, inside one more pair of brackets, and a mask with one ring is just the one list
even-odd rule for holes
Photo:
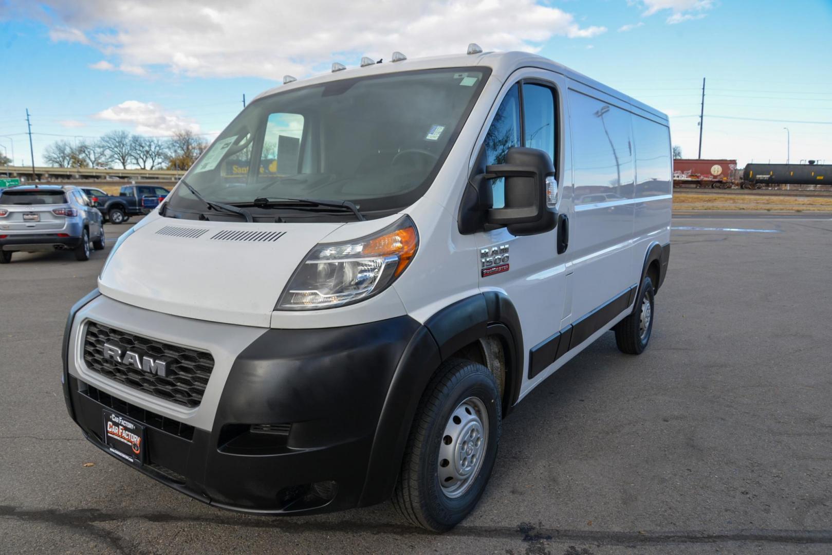
[[[197,77],[302,76],[322,63],[362,55],[387,59],[485,50],[535,52],[552,37],[589,38],[571,13],[534,0],[46,0],[53,40],[82,38],[113,67],[141,75],[151,67]],[[207,4],[207,6],[206,6]],[[106,31],[103,31],[106,30]],[[85,34],[86,32],[86,34]],[[98,64],[93,64],[97,66]]]

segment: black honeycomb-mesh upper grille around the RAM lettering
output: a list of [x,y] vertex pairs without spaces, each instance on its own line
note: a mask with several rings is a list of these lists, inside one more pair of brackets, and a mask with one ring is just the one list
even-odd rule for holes
[[[135,365],[105,358],[105,343],[119,346],[122,354],[129,350],[139,357],[146,355],[166,360],[167,375],[152,374]],[[214,369],[214,357],[205,351],[162,343],[96,322],[87,324],[84,363],[88,369],[106,378],[186,407],[199,406]]]

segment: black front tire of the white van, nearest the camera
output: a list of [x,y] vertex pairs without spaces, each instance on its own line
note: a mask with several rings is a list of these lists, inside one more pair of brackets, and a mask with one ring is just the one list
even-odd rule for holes
[[[469,410],[469,406],[475,412]],[[468,418],[472,420],[463,422],[458,437],[452,439],[446,433],[453,426],[452,422],[457,422],[456,414],[465,416],[458,412],[460,409],[468,409],[471,415]],[[479,434],[469,435],[477,431],[475,417],[481,418],[482,425]],[[482,417],[487,417],[487,421]],[[467,517],[483,495],[491,476],[502,419],[497,380],[488,368],[463,359],[444,362],[425,389],[410,430],[399,483],[393,495],[393,504],[399,513],[410,523],[433,532],[445,532]],[[473,454],[463,448],[463,440],[470,437],[485,439],[484,447],[480,447],[481,443],[476,444],[477,450]],[[456,492],[445,493],[451,490],[440,484],[440,465],[448,468],[443,471],[448,473],[453,468],[450,465],[454,464],[447,458],[440,458],[440,448],[444,450],[443,454],[462,453],[463,463],[470,460],[474,464],[476,457],[481,459],[479,467],[473,468],[466,480],[451,484],[458,486]],[[447,483],[448,477],[443,479]],[[458,496],[452,498],[452,494]]]

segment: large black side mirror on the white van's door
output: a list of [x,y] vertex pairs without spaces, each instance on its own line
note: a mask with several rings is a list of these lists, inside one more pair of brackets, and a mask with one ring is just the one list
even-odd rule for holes
[[547,152],[513,146],[506,153],[505,164],[487,166],[485,171],[484,180],[506,180],[505,206],[488,210],[488,224],[505,225],[512,235],[533,235],[555,228],[557,182]]

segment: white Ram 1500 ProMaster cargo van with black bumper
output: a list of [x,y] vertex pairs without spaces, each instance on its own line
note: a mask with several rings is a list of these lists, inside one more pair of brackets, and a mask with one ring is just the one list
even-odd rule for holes
[[471,51],[287,77],[240,112],[72,309],[87,439],[218,507],[392,497],[441,531],[537,384],[607,330],[646,348],[666,116]]

